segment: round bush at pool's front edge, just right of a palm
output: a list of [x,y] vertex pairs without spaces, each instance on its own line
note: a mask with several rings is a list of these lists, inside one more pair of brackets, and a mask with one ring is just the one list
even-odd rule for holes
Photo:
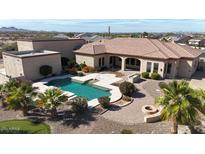
[[88,102],[85,97],[78,96],[71,100],[71,106],[72,106],[73,112],[77,114],[81,114],[87,111]]

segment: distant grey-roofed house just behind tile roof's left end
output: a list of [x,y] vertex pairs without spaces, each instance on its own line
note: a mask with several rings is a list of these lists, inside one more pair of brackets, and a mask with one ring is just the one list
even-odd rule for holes
[[81,33],[81,34],[76,35],[75,38],[84,39],[86,40],[87,43],[92,43],[92,42],[100,41],[103,39],[102,36],[95,35],[93,33]]

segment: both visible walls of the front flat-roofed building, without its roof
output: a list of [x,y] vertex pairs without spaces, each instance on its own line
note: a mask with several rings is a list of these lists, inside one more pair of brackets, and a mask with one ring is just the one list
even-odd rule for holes
[[12,78],[24,77],[28,80],[37,80],[43,78],[39,69],[42,65],[49,65],[53,68],[53,74],[61,73],[61,56],[44,55],[36,57],[17,58],[3,55],[6,75]]

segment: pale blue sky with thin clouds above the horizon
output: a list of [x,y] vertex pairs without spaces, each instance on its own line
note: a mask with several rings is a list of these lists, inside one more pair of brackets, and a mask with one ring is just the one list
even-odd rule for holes
[[205,32],[199,19],[76,19],[76,20],[0,20],[0,27],[58,32]]

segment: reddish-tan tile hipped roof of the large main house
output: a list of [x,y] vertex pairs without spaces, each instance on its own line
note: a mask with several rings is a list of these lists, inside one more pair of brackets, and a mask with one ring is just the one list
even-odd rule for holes
[[75,53],[97,55],[103,53],[130,55],[144,58],[179,59],[196,58],[202,52],[187,45],[162,42],[147,38],[115,38],[83,45]]

